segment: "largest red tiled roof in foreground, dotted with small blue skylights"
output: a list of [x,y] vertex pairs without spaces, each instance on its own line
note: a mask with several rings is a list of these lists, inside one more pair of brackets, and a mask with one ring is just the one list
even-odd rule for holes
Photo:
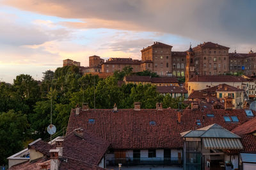
[[[207,117],[207,113],[214,117]],[[239,122],[225,122],[223,116],[237,116]],[[90,123],[89,119],[95,122]],[[196,125],[196,120],[202,125]],[[67,134],[83,127],[109,141],[115,149],[182,148],[180,132],[215,123],[231,131],[248,120],[250,117],[246,117],[244,110],[183,110],[180,124],[177,123],[177,111],[173,109],[80,110],[79,115],[72,110]],[[156,125],[150,125],[150,121]]]

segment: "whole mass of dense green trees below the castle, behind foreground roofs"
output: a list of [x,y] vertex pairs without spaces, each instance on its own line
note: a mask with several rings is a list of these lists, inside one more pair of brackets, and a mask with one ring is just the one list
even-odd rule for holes
[[[13,84],[0,83],[0,164],[37,138],[47,139],[47,126],[51,121],[57,131],[67,127],[70,110],[77,104],[88,103],[90,108],[133,108],[136,101],[141,108],[184,108],[184,99],[162,96],[153,85],[127,84],[118,86],[118,80],[133,74],[131,67],[116,71],[102,80],[91,74],[82,75],[79,67],[59,67],[55,72],[45,71],[38,82],[27,74],[20,74]],[[157,76],[143,71],[140,76]]]

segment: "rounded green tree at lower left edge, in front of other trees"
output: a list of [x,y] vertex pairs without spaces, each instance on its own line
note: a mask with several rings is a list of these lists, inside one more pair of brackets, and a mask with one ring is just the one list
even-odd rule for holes
[[0,164],[7,164],[6,158],[24,148],[28,120],[26,115],[10,110],[0,114]]

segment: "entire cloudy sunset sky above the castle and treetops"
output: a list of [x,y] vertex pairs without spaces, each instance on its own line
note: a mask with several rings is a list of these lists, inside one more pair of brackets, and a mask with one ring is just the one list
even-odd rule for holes
[[256,51],[254,0],[0,0],[0,81],[35,80],[73,59],[132,57],[154,41]]

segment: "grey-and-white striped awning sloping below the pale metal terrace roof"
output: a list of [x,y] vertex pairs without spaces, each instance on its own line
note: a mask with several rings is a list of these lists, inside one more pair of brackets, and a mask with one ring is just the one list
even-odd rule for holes
[[203,138],[205,149],[241,150],[243,145],[237,138]]

